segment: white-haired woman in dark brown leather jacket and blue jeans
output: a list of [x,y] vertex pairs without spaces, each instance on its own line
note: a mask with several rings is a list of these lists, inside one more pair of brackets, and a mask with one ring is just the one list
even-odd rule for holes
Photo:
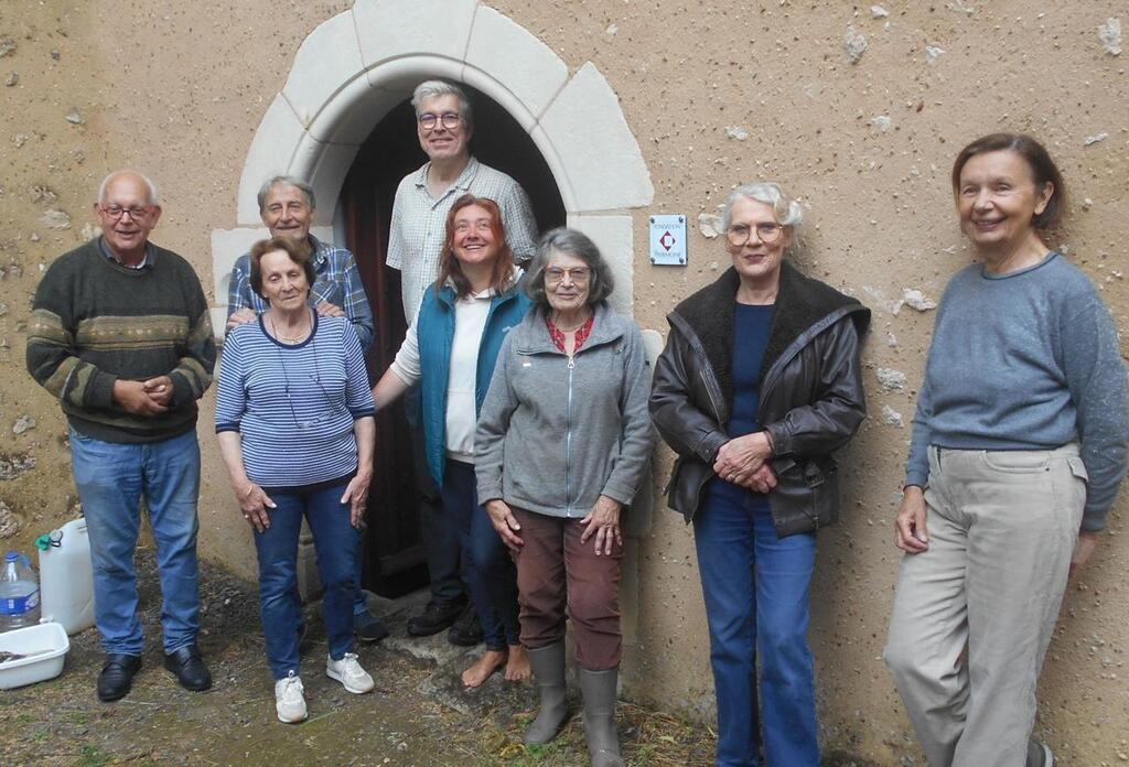
[[718,766],[756,765],[756,651],[770,765],[816,767],[807,592],[838,518],[833,450],[866,415],[870,312],[784,262],[803,209],[774,183],[725,205],[733,268],[672,311],[650,413],[677,453],[668,503],[693,522],[717,693]]

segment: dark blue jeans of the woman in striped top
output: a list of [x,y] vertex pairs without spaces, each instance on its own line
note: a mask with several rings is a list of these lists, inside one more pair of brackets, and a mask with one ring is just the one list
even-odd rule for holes
[[255,532],[259,553],[259,609],[266,637],[266,662],[275,679],[299,671],[298,638],[301,600],[298,596],[298,536],[301,518],[314,534],[317,576],[322,581],[322,615],[330,638],[330,656],[341,660],[353,649],[353,565],[360,540],[349,523],[349,504],[341,503],[348,483],[266,494],[277,508],[269,509],[271,526]]

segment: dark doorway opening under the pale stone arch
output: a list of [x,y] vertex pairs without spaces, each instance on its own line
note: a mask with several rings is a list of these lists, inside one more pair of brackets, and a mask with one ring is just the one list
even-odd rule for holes
[[[525,188],[540,231],[564,226],[560,191],[528,133],[497,102],[469,86],[463,88],[474,108],[472,153]],[[376,342],[368,355],[374,382],[395,359],[406,330],[400,272],[384,265],[392,203],[400,180],[426,161],[417,138],[414,111],[404,100],[366,139],[341,191],[347,247],[357,257],[376,324]],[[368,534],[362,552],[364,585],[388,598],[428,582],[410,440],[402,404],[377,415]]]

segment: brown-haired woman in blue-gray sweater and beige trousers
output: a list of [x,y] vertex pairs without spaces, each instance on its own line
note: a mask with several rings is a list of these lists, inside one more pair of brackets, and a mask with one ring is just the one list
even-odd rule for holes
[[952,180],[978,263],[937,311],[885,660],[933,767],[1039,767],[1039,671],[1126,470],[1126,371],[1109,309],[1040,237],[1065,209],[1047,150],[987,135]]

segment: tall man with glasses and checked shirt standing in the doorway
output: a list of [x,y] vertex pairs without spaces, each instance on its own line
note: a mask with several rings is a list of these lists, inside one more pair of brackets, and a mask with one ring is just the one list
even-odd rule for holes
[[[516,261],[532,258],[537,241],[536,220],[522,186],[471,156],[474,116],[463,89],[443,80],[427,80],[412,94],[412,106],[420,147],[428,161],[405,176],[396,188],[386,261],[388,266],[400,270],[404,318],[409,324],[419,314],[423,291],[439,275],[447,213],[462,195],[470,193],[498,203]],[[411,420],[410,398],[405,406]],[[447,638],[454,644],[478,644],[482,641],[482,629],[473,606],[467,606],[460,578],[458,532],[444,522],[439,488],[422,457],[423,434],[419,424],[413,424],[413,442],[431,600],[423,612],[409,619],[408,633],[429,636],[450,627]]]

